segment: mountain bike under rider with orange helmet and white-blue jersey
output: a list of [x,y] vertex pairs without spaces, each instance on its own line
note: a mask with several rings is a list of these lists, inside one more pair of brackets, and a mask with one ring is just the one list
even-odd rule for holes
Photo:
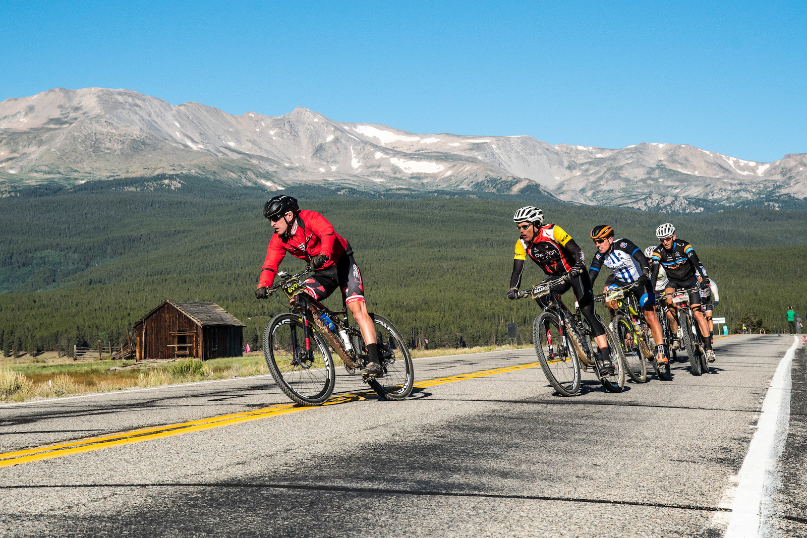
[[[633,293],[630,292],[634,286],[638,286],[638,282],[612,288],[598,297],[604,302],[617,302],[617,311],[611,322],[611,330],[621,344],[622,353],[625,355],[625,370],[633,382],[646,383],[650,381],[647,378],[647,363],[654,363],[656,372],[659,372],[659,366],[655,364],[657,357],[654,357],[654,353],[650,351],[650,343],[646,340],[642,310]],[[669,373],[669,365],[667,365],[667,373]]]

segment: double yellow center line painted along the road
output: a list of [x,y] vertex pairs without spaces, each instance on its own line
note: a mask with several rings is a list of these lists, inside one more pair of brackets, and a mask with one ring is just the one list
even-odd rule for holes
[[[484,370],[483,372],[461,373],[451,377],[430,379],[429,381],[416,383],[415,386],[423,389],[429,386],[442,385],[444,383],[464,381],[474,377],[483,377],[495,375],[496,373],[507,373],[525,368],[533,368],[539,364],[540,363],[538,362],[533,362],[528,365],[507,366],[504,368]],[[325,402],[324,405],[330,406],[338,403],[355,402],[358,400],[363,400],[372,394],[374,394],[372,391],[356,394],[340,394],[338,396],[328,398],[328,401]],[[136,430],[130,430],[128,432],[85,437],[84,439],[68,441],[65,443],[48,444],[36,448],[28,448],[26,450],[18,450],[16,452],[0,454],[0,467],[19,465],[21,463],[28,463],[31,461],[48,460],[54,457],[69,456],[71,454],[92,452],[94,450],[120,446],[123,444],[141,443],[147,440],[161,439],[162,437],[178,436],[188,432],[200,432],[202,430],[209,430],[213,427],[229,426],[231,424],[249,422],[250,420],[268,419],[273,416],[286,415],[288,413],[296,413],[299,411],[310,411],[314,409],[317,409],[317,407],[302,407],[293,403],[282,403],[276,406],[264,407],[262,409],[256,409],[253,411],[242,411],[240,413],[231,413],[229,415],[219,415],[209,419],[191,420],[190,422],[175,424],[163,424],[161,426],[143,427]]]

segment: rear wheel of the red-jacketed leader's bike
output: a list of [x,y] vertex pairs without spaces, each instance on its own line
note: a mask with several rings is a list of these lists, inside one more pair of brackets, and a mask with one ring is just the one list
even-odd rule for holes
[[[389,319],[377,314],[370,314],[370,318],[375,323],[378,360],[384,369],[384,376],[369,379],[367,383],[387,400],[403,400],[412,394],[412,385],[415,382],[412,357],[409,356],[403,336]],[[361,344],[364,344],[363,340]]]

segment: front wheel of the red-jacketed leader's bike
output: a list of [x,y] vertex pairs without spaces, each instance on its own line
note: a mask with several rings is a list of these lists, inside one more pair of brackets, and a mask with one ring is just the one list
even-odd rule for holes
[[301,406],[322,405],[333,392],[336,371],[328,346],[311,328],[311,354],[305,327],[296,314],[278,314],[263,332],[263,356],[280,390]]

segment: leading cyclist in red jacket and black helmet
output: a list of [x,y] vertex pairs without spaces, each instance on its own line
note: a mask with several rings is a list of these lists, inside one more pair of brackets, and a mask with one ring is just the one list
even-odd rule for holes
[[255,297],[269,297],[267,288],[272,285],[286,252],[307,261],[314,269],[314,274],[305,281],[307,294],[322,301],[337,288],[341,289],[367,347],[367,365],[362,374],[383,375],[378,364],[374,323],[364,300],[362,273],[353,260],[353,249],[348,241],[333,230],[324,216],[316,211],[301,210],[297,199],[285,194],[266,202],[263,216],[271,221],[276,233],[266,249]]

